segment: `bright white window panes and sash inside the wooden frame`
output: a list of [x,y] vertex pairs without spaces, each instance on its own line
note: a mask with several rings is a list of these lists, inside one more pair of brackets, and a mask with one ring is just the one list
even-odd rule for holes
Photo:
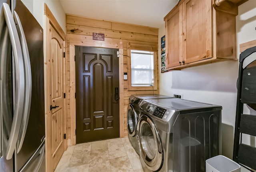
[[131,84],[154,85],[154,52],[131,50]]

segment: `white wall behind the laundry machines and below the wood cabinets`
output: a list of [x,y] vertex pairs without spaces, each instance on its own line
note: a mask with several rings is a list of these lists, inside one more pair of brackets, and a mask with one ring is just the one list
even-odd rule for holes
[[[255,0],[239,6],[236,23],[239,52],[239,44],[256,39]],[[162,25],[159,29],[159,42],[164,35],[165,28]],[[159,64],[161,70],[160,58]],[[229,158],[233,155],[237,76],[238,62],[225,61],[165,73],[160,71],[159,79],[160,94],[172,96],[180,93],[187,100],[222,106],[222,154]]]

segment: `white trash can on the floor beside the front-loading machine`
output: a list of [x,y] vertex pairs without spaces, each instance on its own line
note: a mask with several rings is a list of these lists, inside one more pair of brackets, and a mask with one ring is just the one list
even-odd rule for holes
[[205,161],[206,172],[240,172],[241,166],[223,155],[214,156]]

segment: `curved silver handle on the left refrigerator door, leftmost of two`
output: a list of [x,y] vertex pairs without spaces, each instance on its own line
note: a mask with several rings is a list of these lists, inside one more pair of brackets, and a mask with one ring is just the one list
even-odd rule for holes
[[[4,16],[4,18],[2,17],[2,15]],[[0,19],[1,20],[3,19],[6,21],[6,25],[7,25],[9,36],[10,36],[10,42],[12,45],[12,54],[13,54],[14,70],[15,70],[14,112],[13,112],[10,136],[7,143],[7,150],[6,150],[6,159],[9,160],[12,158],[12,155],[14,153],[18,135],[19,135],[20,126],[21,126],[21,121],[22,121],[22,112],[23,112],[23,106],[24,106],[24,87],[25,87],[25,84],[23,82],[24,66],[23,66],[20,39],[18,37],[18,31],[16,29],[14,20],[12,18],[10,7],[6,3],[3,3]]]

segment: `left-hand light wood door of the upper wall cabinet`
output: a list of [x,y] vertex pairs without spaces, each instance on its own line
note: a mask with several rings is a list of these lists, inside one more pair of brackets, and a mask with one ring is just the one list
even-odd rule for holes
[[182,6],[177,7],[165,18],[166,68],[182,63]]

